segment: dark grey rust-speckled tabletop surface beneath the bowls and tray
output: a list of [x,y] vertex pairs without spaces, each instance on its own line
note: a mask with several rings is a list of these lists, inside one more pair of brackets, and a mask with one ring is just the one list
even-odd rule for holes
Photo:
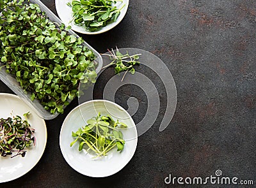
[[[56,13],[53,0],[42,2]],[[64,114],[46,121],[47,146],[35,168],[0,187],[168,187],[164,178],[170,173],[207,177],[218,169],[225,177],[256,184],[255,31],[254,0],[131,0],[127,15],[114,29],[96,36],[79,35],[100,53],[115,46],[133,47],[160,57],[177,87],[177,109],[170,125],[158,131],[166,101],[162,94],[159,117],[138,138],[130,163],[108,178],[85,177],[68,166],[59,147],[61,124],[77,105],[75,100]],[[100,76],[95,98],[101,98],[100,89],[111,74]],[[164,93],[163,85],[157,89]],[[131,91],[132,96],[145,97],[130,85],[120,89],[117,102],[125,106],[122,97],[131,96]],[[0,92],[12,93],[2,82]],[[144,108],[134,121],[143,114]]]

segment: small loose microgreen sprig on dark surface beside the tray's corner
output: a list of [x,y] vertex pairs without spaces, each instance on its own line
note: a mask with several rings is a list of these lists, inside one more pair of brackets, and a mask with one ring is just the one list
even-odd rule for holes
[[[108,50],[109,54],[102,54],[109,56],[111,62],[104,66],[102,69],[107,68],[108,66],[115,66],[115,73],[121,73],[125,71],[125,74],[129,71],[132,75],[135,73],[134,65],[140,64],[138,59],[141,54],[129,55],[128,52],[126,54],[122,54],[118,48],[116,48],[116,52],[113,49]],[[125,76],[125,75],[124,75]],[[122,80],[124,77],[122,78]]]

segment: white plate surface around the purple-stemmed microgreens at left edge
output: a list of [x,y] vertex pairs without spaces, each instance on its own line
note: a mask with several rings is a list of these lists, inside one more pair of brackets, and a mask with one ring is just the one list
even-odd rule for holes
[[41,119],[36,112],[29,108],[18,96],[0,93],[1,117],[12,117],[11,113],[13,113],[14,116],[19,115],[23,118],[22,115],[26,112],[30,112],[28,122],[31,127],[35,128],[36,145],[25,148],[24,150],[27,152],[24,157],[20,155],[13,158],[10,158],[10,156],[0,156],[0,183],[15,180],[28,173],[42,157],[47,141],[47,130],[44,119]]

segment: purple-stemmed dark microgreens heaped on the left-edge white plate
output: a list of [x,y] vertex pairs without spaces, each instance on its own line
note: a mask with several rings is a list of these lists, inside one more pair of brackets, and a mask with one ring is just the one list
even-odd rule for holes
[[35,146],[35,129],[29,125],[27,120],[28,113],[24,114],[26,120],[22,120],[19,115],[8,117],[7,119],[0,119],[1,156],[6,157],[12,155],[13,152],[17,152],[12,157],[17,155],[24,157],[26,155],[24,148],[31,147],[32,145]]

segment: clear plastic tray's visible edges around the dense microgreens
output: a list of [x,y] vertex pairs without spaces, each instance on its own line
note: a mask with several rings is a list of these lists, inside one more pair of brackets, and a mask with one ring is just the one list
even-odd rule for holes
[[[45,12],[45,15],[49,18],[49,20],[51,20],[51,22],[56,22],[57,24],[62,23],[60,18],[56,17],[56,15],[54,15],[54,13],[52,13],[52,11],[49,10],[49,8],[47,8],[47,6],[45,6],[41,1],[30,0],[29,3],[38,4],[40,6],[40,9]],[[68,33],[78,37],[78,35],[74,33],[74,31],[72,30],[69,30]],[[102,68],[102,57],[100,56],[99,52],[97,52],[90,45],[88,45],[88,43],[84,42],[83,45],[88,49],[92,50],[92,52],[95,54],[94,62],[95,64],[97,64],[96,72],[99,73],[100,69]],[[30,94],[26,94],[26,92],[24,92],[24,89],[20,87],[20,83],[17,82],[13,75],[6,73],[5,68],[2,68],[0,70],[0,79],[8,87],[10,87],[10,89],[12,89],[12,91],[15,92],[15,94],[17,94],[23,101],[25,101],[30,108],[33,108],[33,110],[35,110],[35,112],[38,113],[38,115],[42,117],[42,119],[50,120],[54,119],[55,117],[57,117],[57,115],[59,115],[59,113],[52,114],[49,111],[45,110],[44,106],[42,106],[40,102],[36,99],[34,101],[31,101]]]

